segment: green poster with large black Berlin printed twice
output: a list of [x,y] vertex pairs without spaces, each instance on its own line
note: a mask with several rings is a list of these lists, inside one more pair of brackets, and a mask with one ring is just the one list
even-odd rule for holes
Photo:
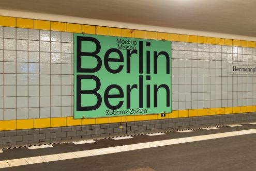
[[74,33],[74,118],[171,112],[171,42]]

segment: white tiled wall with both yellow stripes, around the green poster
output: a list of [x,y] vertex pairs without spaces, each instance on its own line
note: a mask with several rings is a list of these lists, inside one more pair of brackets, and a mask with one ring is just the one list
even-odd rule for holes
[[[172,41],[172,113],[73,119],[73,32]],[[0,16],[0,130],[255,112],[255,42]]]

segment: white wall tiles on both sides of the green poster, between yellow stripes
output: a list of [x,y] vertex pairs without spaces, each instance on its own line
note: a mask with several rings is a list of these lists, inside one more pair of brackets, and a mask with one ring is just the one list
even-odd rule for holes
[[[256,105],[256,48],[172,42],[172,110]],[[0,27],[0,120],[73,115],[73,35]]]

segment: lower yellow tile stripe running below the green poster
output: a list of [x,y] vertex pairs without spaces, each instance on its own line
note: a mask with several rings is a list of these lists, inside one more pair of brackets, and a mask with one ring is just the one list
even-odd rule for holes
[[207,115],[247,113],[247,112],[256,112],[256,106],[176,110],[176,111],[172,111],[172,113],[166,113],[165,117],[161,117],[161,114],[147,114],[147,115],[115,116],[115,117],[100,117],[100,118],[82,118],[82,119],[74,119],[73,117],[18,119],[18,120],[10,120],[10,121],[0,121],[0,131],[15,130],[15,129],[65,127],[65,126],[75,126],[75,125],[110,124],[110,123],[133,122],[133,121],[148,121],[148,120],[165,119],[165,118],[207,116]]

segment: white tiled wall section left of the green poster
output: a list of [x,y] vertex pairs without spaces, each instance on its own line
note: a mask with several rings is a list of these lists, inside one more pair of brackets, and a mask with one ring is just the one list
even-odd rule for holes
[[0,120],[71,116],[71,37],[0,27]]

